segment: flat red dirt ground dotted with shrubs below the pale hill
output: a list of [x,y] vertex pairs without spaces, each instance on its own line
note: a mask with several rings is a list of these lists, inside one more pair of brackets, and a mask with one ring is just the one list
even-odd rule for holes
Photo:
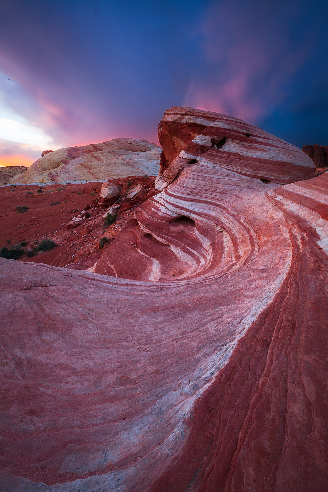
[[[125,192],[136,184],[144,184],[146,188],[154,182],[154,177],[128,176],[111,183],[120,186],[121,198]],[[127,184],[129,183],[129,184]],[[18,261],[45,263],[64,267],[68,264],[86,260],[93,255],[98,259],[111,242],[105,243],[100,250],[97,242],[103,236],[113,239],[121,226],[133,213],[135,207],[123,213],[117,211],[117,219],[110,227],[104,227],[102,216],[106,210],[91,211],[92,202],[97,203],[101,183],[47,185],[37,193],[38,185],[15,185],[0,187],[0,247],[14,246],[22,241],[37,247],[40,241],[51,239],[58,245],[48,252],[39,251],[35,256],[22,255]],[[91,193],[94,193],[91,195]],[[51,206],[51,203],[60,202]],[[20,213],[15,209],[18,205],[26,205],[29,210]],[[74,229],[67,229],[66,224],[89,205],[90,218]],[[74,212],[75,211],[75,212]],[[8,241],[10,243],[8,243]],[[74,243],[72,245],[72,243]],[[27,246],[23,248],[26,250]],[[89,268],[90,262],[83,262]],[[93,263],[92,263],[93,264]]]

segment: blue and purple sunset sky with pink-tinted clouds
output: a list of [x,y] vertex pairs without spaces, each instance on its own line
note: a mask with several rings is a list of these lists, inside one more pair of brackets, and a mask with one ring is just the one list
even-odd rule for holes
[[328,2],[0,0],[0,166],[117,137],[165,109],[328,145]]

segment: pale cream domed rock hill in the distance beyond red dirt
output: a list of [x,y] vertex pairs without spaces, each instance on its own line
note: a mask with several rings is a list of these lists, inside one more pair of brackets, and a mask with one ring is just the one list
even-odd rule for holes
[[156,176],[161,148],[148,140],[113,138],[83,147],[45,151],[24,174],[9,183],[99,181],[149,174]]

